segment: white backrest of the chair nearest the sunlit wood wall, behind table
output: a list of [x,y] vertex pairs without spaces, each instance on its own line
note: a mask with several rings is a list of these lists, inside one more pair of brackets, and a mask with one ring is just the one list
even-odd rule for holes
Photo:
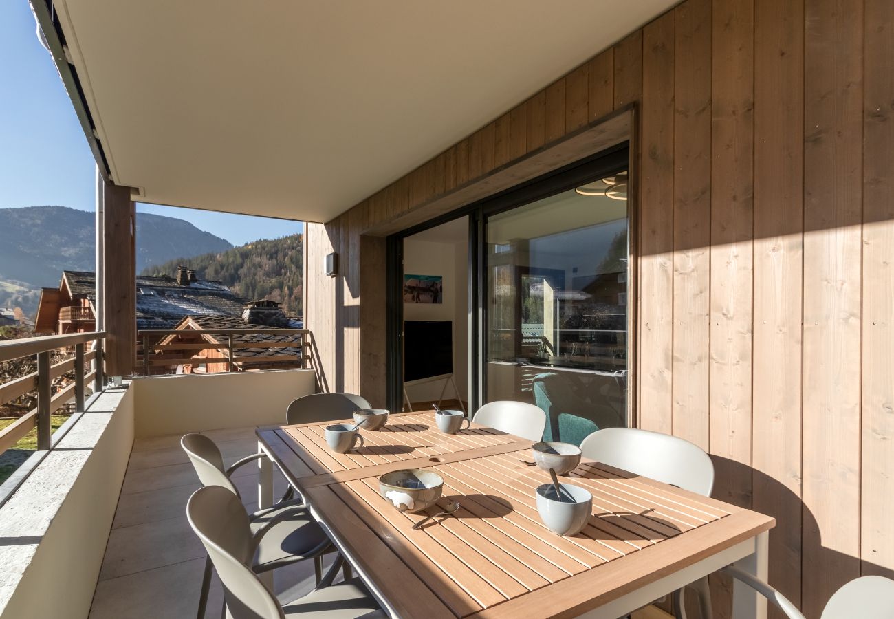
[[660,432],[605,428],[580,444],[585,458],[711,496],[714,465],[693,443]]

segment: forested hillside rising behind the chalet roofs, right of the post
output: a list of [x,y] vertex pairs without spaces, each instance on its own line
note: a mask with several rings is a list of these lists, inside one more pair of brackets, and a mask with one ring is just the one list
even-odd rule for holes
[[144,268],[142,275],[172,275],[178,265],[183,265],[193,269],[199,279],[214,279],[227,284],[240,297],[272,299],[283,303],[286,312],[301,316],[304,267],[301,242],[300,234],[273,241],[250,242],[232,250],[168,260]]

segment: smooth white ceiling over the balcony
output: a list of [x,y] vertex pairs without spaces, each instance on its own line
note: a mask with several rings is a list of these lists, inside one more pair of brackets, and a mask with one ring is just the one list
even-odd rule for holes
[[114,181],[328,221],[676,0],[56,0]]

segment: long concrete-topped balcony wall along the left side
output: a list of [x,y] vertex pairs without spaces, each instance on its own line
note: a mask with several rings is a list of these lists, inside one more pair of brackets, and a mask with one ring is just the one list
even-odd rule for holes
[[0,508],[0,617],[87,617],[133,445],[132,386],[101,394]]

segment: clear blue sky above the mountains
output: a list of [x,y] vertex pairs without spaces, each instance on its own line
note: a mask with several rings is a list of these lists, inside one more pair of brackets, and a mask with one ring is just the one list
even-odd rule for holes
[[[0,208],[61,205],[92,211],[96,164],[27,0],[0,1]],[[298,222],[139,204],[234,245],[301,230]]]

